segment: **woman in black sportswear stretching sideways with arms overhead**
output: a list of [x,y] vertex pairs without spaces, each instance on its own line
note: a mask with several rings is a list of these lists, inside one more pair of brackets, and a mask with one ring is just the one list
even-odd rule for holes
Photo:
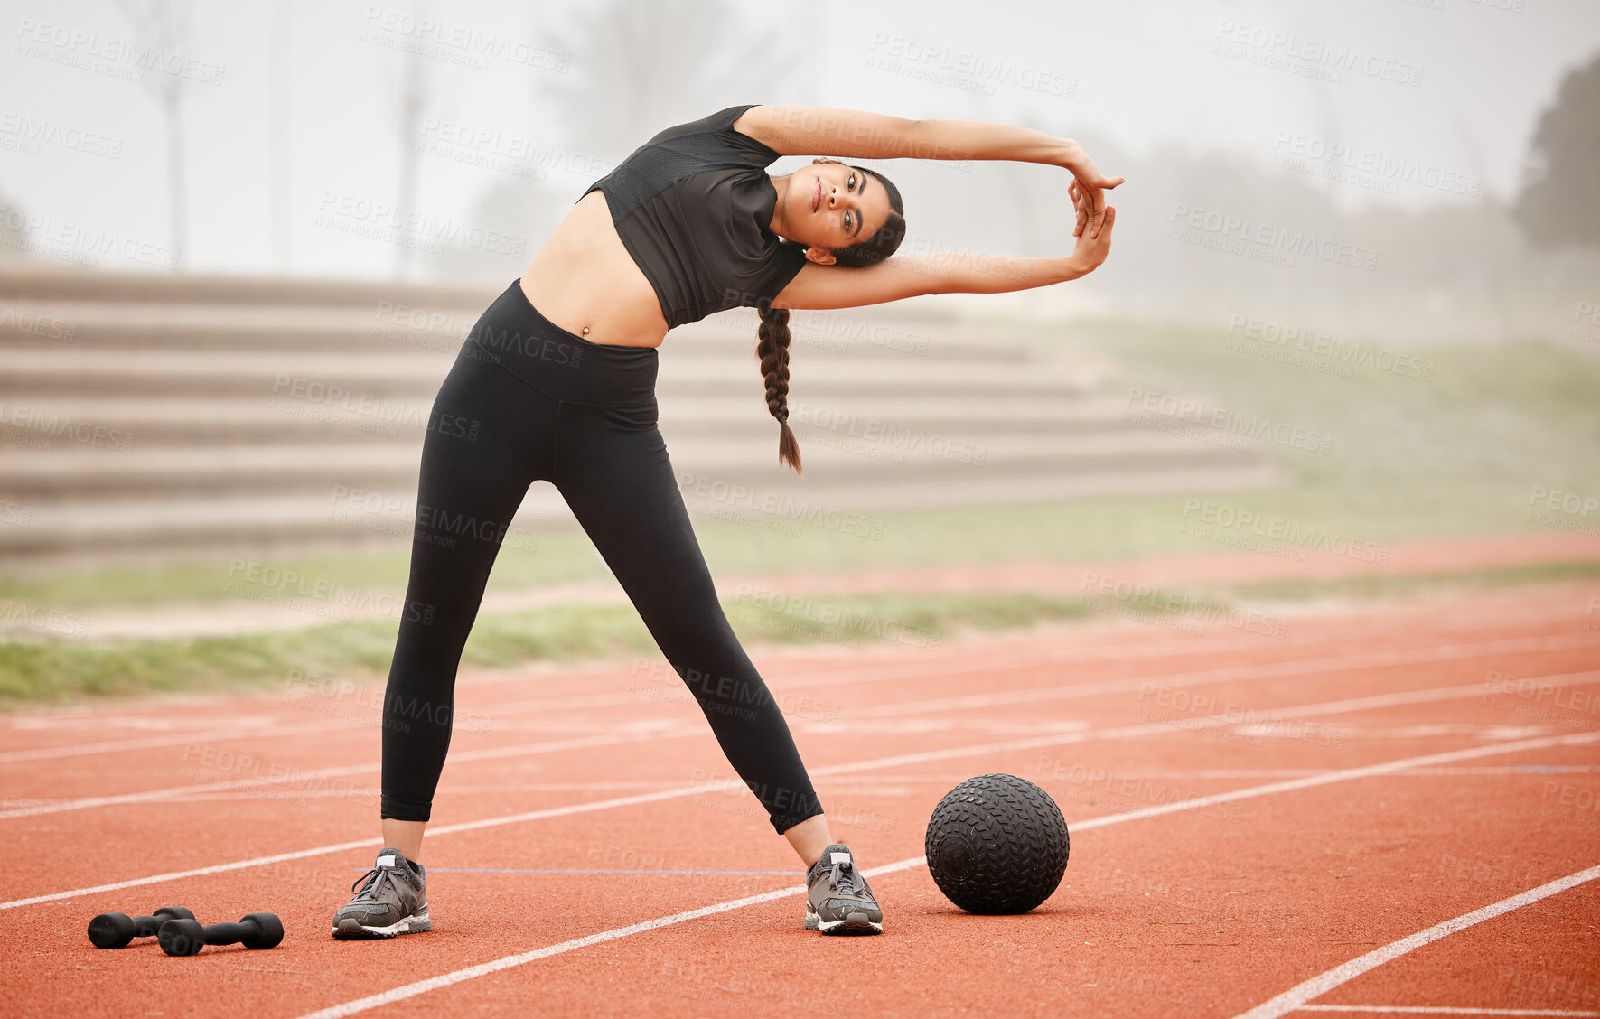
[[[890,258],[906,208],[888,178],[818,157],[1024,160],[1074,176],[1070,256]],[[915,294],[1000,293],[1093,272],[1110,248],[1106,178],[1077,142],[998,123],[902,120],[806,106],[733,106],[661,131],[597,181],[467,334],[422,442],[416,531],[382,734],[382,841],[334,937],[430,929],[418,862],[450,745],[461,649],[528,485],[566,499],[710,721],[728,763],[806,867],[808,929],[877,934],[883,912],[827,817],[778,702],[717,601],[656,429],[667,330],[757,307],[778,456],[789,430],[789,310]],[[976,195],[979,210],[987,208]],[[472,422],[475,427],[462,427]],[[445,710],[438,710],[443,707]]]

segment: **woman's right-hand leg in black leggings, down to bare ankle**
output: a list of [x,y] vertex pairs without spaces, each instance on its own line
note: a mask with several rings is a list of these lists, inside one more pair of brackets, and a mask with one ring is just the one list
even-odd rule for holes
[[[806,865],[826,821],[782,710],[728,624],[656,430],[654,402],[563,403],[555,486],[710,721],[728,763]],[[813,854],[814,853],[814,854]],[[810,859],[806,859],[810,856]]]

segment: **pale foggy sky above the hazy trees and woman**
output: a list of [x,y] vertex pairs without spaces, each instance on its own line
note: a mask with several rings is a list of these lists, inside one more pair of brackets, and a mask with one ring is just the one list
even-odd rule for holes
[[[443,11],[434,14],[442,27],[432,42],[443,42],[445,59],[422,61],[430,86],[422,115],[558,144],[562,117],[546,86],[565,72],[528,51],[546,29],[570,24],[573,5],[454,0],[432,8]],[[706,109],[685,109],[678,120],[736,102],[797,102],[914,118],[1026,120],[1069,138],[1110,139],[1131,154],[1182,142],[1261,165],[1290,144],[1285,139],[1301,139],[1293,144],[1344,144],[1480,179],[1488,195],[1515,189],[1536,118],[1562,75],[1600,51],[1600,5],[1592,0],[814,0],[739,8],[782,38],[787,74],[774,77],[786,82],[774,80],[770,94],[726,94]],[[194,64],[184,104],[189,269],[280,267],[272,166],[280,155],[274,117],[282,114],[291,186],[290,261],[282,267],[294,275],[386,275],[392,246],[322,227],[317,216],[330,202],[395,200],[403,66],[395,46],[408,38],[397,26],[406,14],[426,16],[427,5],[290,2],[286,91],[278,91],[282,72],[274,70],[280,10],[194,6],[194,35],[182,46]],[[110,0],[3,0],[0,27],[0,205],[54,229],[93,224],[166,243],[160,110],[147,86],[117,72],[118,46],[136,38],[123,8]],[[504,45],[499,54],[461,62],[450,34]],[[59,42],[69,37],[80,42]],[[1365,70],[1346,69],[1338,82],[1312,77],[1318,67],[1334,69],[1341,53],[1358,53]],[[707,59],[714,56],[750,67],[770,59],[755,34],[747,51]],[[664,77],[659,88],[670,93],[674,83]],[[45,131],[37,152],[24,139],[29,130]],[[619,158],[643,141],[576,154],[582,158],[550,168],[542,187],[576,200],[600,176],[592,170],[598,160]],[[771,171],[798,163],[779,162]],[[1118,173],[1104,162],[1101,168]],[[459,158],[422,158],[418,208],[467,221],[486,189],[504,179]],[[1418,208],[1467,198],[1450,187],[1406,184],[1394,195],[1342,189],[1339,200]],[[974,216],[990,213],[974,203]],[[531,234],[526,224],[506,226]],[[528,240],[523,261],[542,237]],[[146,267],[117,258],[101,266]]]

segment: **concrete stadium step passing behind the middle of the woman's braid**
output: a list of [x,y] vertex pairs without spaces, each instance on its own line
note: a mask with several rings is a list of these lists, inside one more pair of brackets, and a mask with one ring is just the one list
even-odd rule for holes
[[[662,357],[661,397],[762,394],[754,362],[736,357]],[[11,350],[0,365],[0,400],[22,403],[45,395],[262,395],[349,403],[368,397],[429,397],[438,392],[450,358],[346,352],[173,352],[173,350]],[[1086,373],[1061,365],[926,362],[797,362],[790,395],[822,394],[1042,395],[1082,392]],[[334,394],[333,390],[338,390]]]

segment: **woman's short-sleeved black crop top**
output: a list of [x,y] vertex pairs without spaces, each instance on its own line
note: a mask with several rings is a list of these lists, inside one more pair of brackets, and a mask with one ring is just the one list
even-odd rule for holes
[[757,307],[805,267],[805,246],[771,232],[778,190],[765,168],[781,154],[733,130],[752,106],[661,131],[584,192],[605,195],[667,328]]

